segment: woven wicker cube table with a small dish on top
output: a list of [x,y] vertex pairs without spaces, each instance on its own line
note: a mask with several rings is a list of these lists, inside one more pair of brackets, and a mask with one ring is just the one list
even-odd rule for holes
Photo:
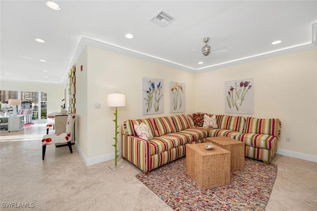
[[186,145],[186,172],[202,189],[230,184],[230,152],[214,146]]

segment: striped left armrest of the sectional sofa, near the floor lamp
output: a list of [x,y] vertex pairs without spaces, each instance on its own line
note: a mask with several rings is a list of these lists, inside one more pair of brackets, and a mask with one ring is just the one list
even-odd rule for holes
[[150,143],[137,136],[122,135],[122,156],[143,172],[151,169]]

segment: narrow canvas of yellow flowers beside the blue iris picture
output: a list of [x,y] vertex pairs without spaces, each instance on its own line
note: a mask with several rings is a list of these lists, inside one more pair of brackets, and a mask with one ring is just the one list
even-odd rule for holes
[[184,83],[170,82],[170,112],[185,112],[185,87]]

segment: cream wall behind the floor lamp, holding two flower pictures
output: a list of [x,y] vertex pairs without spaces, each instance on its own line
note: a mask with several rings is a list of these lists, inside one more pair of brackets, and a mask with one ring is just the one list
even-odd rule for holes
[[[78,69],[85,61],[79,59],[76,62],[76,113],[82,112],[81,98],[84,99],[87,93],[87,119],[85,119],[87,121],[87,153],[84,154],[88,162],[90,159],[103,160],[112,158],[114,155],[112,119],[114,119],[115,108],[106,106],[108,93],[118,91],[126,95],[126,107],[118,107],[119,124],[122,124],[125,119],[176,115],[176,113],[169,113],[170,81],[186,84],[186,113],[195,111],[195,103],[191,100],[195,98],[194,73],[90,46],[87,47],[87,52],[87,69],[84,68],[84,71],[87,71],[87,91],[83,90],[82,93],[78,89],[80,86],[84,89],[85,85],[82,85],[80,81],[83,81],[82,78],[86,75],[78,73]],[[164,113],[142,115],[142,77],[164,80]],[[101,108],[95,108],[95,103],[101,103]],[[84,120],[84,117],[81,116],[81,119]],[[82,133],[84,132],[80,130],[81,140]]]

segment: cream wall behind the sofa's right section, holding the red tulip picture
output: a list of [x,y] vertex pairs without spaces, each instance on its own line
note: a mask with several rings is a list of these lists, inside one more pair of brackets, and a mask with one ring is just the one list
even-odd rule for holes
[[195,110],[225,114],[224,82],[244,78],[254,78],[254,114],[240,115],[279,118],[278,151],[317,156],[317,49],[198,73]]

